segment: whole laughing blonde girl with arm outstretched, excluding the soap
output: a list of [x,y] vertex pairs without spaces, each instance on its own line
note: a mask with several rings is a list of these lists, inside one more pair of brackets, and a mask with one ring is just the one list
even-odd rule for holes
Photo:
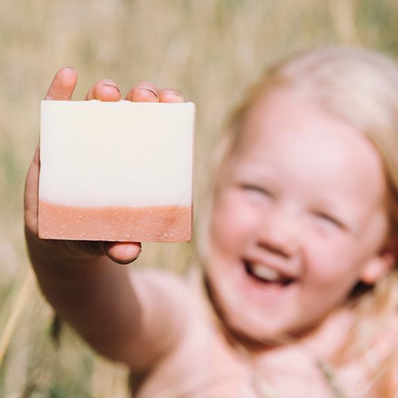
[[[70,99],[61,69],[47,99]],[[118,101],[102,80],[87,99]],[[180,102],[142,82],[131,101]],[[187,278],[129,270],[138,243],[26,238],[41,290],[140,398],[398,397],[398,68],[357,48],[267,71],[231,118]]]

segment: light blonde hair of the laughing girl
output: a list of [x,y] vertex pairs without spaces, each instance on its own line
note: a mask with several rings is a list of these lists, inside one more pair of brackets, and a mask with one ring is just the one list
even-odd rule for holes
[[[249,109],[267,93],[283,87],[309,90],[325,111],[351,124],[372,142],[386,175],[390,236],[398,236],[398,66],[395,61],[372,50],[341,46],[308,50],[269,68],[229,120],[214,159],[216,169],[221,170],[233,155]],[[200,229],[199,255],[205,262],[218,179],[219,173],[214,174],[205,210],[207,218]],[[398,308],[397,266],[375,287],[359,285],[350,297],[350,305],[356,321],[333,359],[337,366],[366,355],[395,316]],[[386,375],[397,366],[397,359],[397,352],[391,352],[383,363],[374,363],[374,369],[370,370],[372,391],[379,388],[381,392],[380,388],[383,388],[383,397],[393,396],[393,392],[386,395]]]

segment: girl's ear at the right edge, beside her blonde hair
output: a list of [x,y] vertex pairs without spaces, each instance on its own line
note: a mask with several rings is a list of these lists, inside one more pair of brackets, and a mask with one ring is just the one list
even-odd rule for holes
[[379,254],[370,258],[361,272],[361,281],[366,285],[375,285],[390,270],[398,260],[398,236],[390,238]]

